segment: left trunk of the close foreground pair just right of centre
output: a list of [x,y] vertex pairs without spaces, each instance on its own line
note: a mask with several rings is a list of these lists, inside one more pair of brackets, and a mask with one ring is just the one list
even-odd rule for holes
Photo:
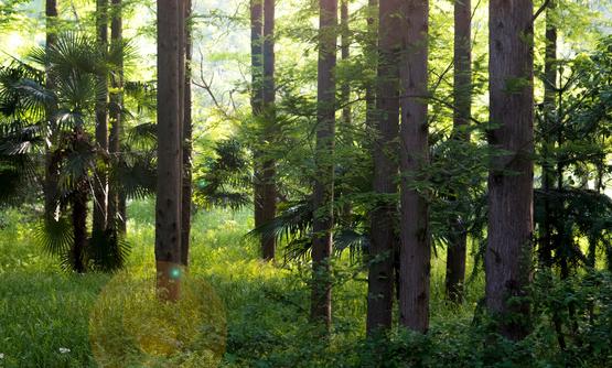
[[391,326],[394,291],[394,224],[397,216],[396,176],[399,133],[399,0],[380,0],[378,30],[378,83],[375,141],[374,192],[380,195],[372,212],[369,253],[367,333]]

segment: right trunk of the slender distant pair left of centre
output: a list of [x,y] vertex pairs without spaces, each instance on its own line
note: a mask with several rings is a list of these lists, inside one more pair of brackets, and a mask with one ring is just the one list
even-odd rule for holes
[[[275,110],[275,0],[264,2],[264,80],[262,80],[262,102],[264,102],[264,139],[273,142],[277,134],[276,110]],[[269,158],[269,152],[265,152],[260,183],[260,221],[266,224],[276,216],[276,161]],[[261,252],[265,260],[273,260],[276,252],[276,239],[273,236],[261,237]]]

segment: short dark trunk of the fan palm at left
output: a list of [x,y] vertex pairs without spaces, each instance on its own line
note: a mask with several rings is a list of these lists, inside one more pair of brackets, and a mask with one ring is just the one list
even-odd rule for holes
[[80,183],[73,193],[73,270],[84,273],[85,268],[85,248],[87,247],[87,188],[86,183]]

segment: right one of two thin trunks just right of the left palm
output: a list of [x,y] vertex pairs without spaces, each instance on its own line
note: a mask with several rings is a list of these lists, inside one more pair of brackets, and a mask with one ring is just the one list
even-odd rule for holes
[[[110,105],[110,136],[108,139],[108,150],[110,153],[110,162],[114,165],[119,165],[121,162],[121,110],[124,105],[124,26],[122,26],[122,9],[121,0],[111,0],[111,21],[110,21],[110,47],[120,50],[120,58],[115,65],[115,71],[111,75]],[[108,216],[107,228],[112,231],[118,230],[118,223],[124,221],[119,213],[119,194],[120,184],[117,180],[109,183],[108,187]]]

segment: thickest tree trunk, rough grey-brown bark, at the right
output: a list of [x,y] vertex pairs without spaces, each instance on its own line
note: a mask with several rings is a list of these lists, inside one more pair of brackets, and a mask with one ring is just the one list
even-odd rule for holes
[[508,297],[524,296],[532,275],[533,17],[532,1],[490,3],[490,120],[496,128],[488,143],[507,153],[491,159],[485,295],[500,332],[512,339],[528,332],[528,303],[509,305]]

